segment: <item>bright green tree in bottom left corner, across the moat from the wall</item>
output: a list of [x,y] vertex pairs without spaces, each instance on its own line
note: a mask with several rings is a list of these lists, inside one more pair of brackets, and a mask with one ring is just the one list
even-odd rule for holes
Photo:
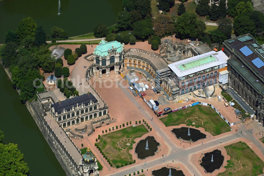
[[17,144],[3,144],[3,132],[0,130],[0,173],[1,175],[21,175],[26,176],[29,171],[24,156],[17,149]]

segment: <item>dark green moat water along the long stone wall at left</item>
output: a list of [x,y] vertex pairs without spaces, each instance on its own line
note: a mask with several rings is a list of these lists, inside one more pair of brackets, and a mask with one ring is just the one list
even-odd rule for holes
[[57,158],[0,65],[1,123],[4,143],[16,143],[29,166],[29,175],[65,175]]

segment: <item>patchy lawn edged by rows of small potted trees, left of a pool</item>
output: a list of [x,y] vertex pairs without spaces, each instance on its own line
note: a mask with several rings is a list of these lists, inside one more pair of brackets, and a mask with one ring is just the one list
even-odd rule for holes
[[[102,135],[100,142],[97,143],[97,146],[102,149],[103,154],[105,154],[107,159],[113,163],[113,166],[120,166],[121,164],[125,165],[129,162],[133,163],[132,155],[129,153],[129,150],[133,149],[132,145],[135,143],[134,139],[141,137],[148,132],[148,129],[143,124],[135,127],[126,127]],[[117,142],[128,138],[130,138],[131,141],[125,142],[124,145],[122,145],[123,149],[121,149]],[[126,145],[126,143],[130,143],[130,146]]]

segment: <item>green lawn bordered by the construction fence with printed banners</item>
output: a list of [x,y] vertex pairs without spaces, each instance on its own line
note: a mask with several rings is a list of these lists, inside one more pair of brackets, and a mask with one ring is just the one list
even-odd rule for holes
[[[198,117],[194,118],[194,117]],[[193,119],[194,118],[194,119]],[[187,120],[188,119],[188,120]],[[230,131],[230,126],[210,106],[195,105],[178,110],[160,118],[166,127],[186,124],[187,126],[202,127],[213,136]],[[195,122],[195,124],[192,124]]]

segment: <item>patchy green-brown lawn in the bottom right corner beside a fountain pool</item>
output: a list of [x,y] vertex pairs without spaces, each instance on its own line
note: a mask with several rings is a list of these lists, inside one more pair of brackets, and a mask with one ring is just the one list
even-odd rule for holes
[[[225,146],[227,154],[230,155],[225,172],[220,175],[251,176],[263,174],[263,161],[254,153],[245,142],[236,142]],[[241,168],[239,170],[239,168]]]

